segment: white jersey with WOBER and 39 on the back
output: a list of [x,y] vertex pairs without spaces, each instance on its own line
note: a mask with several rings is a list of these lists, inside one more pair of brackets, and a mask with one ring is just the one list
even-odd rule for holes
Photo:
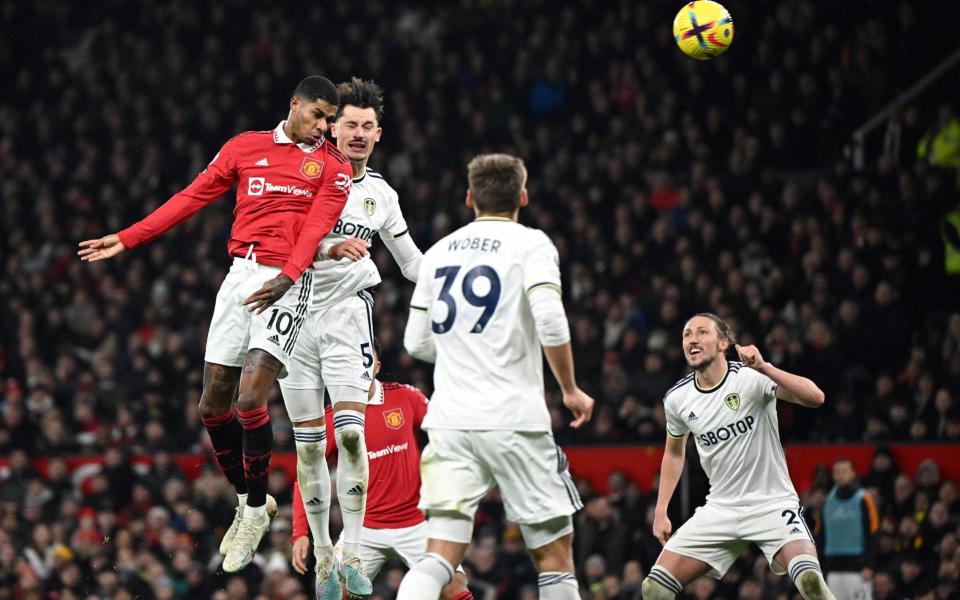
[[424,429],[550,431],[527,301],[539,286],[560,291],[557,249],[508,219],[480,217],[424,254],[410,300],[429,314],[437,351]]

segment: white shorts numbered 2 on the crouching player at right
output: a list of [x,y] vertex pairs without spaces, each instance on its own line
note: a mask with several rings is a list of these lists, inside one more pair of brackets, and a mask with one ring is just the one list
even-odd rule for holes
[[794,503],[760,510],[719,508],[707,504],[667,540],[664,550],[710,565],[707,575],[720,579],[750,544],[767,557],[770,569],[783,575],[786,569],[773,561],[788,542],[814,543],[803,519],[803,508]]

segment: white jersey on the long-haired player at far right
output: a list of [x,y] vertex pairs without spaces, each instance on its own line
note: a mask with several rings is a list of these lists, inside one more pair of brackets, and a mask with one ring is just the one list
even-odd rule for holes
[[777,425],[777,384],[740,362],[713,389],[701,389],[693,373],[663,398],[667,434],[689,432],[710,480],[708,504],[761,507],[798,503],[787,472]]

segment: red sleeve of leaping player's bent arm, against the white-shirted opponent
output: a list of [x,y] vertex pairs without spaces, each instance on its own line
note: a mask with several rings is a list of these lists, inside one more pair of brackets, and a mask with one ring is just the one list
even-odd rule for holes
[[343,205],[347,203],[347,197],[350,195],[350,185],[353,182],[353,168],[350,163],[341,163],[333,157],[330,157],[328,162],[333,162],[336,168],[330,169],[324,176],[323,185],[320,186],[317,197],[310,206],[310,212],[307,213],[303,222],[300,235],[297,236],[297,244],[293,247],[290,258],[281,271],[293,281],[296,281],[313,262],[320,240],[325,238],[337,224],[337,219],[343,212]]

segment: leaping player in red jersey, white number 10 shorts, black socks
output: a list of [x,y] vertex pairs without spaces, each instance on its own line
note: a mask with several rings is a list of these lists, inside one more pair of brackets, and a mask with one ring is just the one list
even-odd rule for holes
[[270,526],[267,397],[286,375],[306,317],[313,277],[301,274],[350,190],[349,161],[324,137],[338,106],[330,80],[305,78],[276,128],[230,139],[193,183],[142,221],[80,243],[84,261],[114,257],[156,239],[237,184],[227,244],[233,265],[210,321],[200,398],[217,461],[239,500],[220,546],[227,572],[250,563]]

